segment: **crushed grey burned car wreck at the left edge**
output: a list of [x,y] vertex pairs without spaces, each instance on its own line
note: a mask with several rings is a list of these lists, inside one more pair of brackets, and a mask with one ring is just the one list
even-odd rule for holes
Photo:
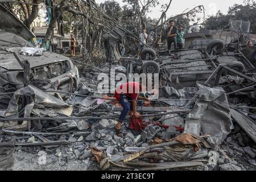
[[[78,88],[79,72],[68,57],[48,51],[28,55],[30,52],[27,53],[26,50],[35,49],[32,46],[28,47],[29,45],[30,43],[17,35],[0,32],[1,93],[14,92],[24,86],[24,68],[17,59],[27,60],[30,64],[30,73],[28,73],[30,84],[39,89],[74,92]],[[64,96],[63,93],[59,94],[59,97]],[[0,107],[6,108],[10,96],[0,97]]]

